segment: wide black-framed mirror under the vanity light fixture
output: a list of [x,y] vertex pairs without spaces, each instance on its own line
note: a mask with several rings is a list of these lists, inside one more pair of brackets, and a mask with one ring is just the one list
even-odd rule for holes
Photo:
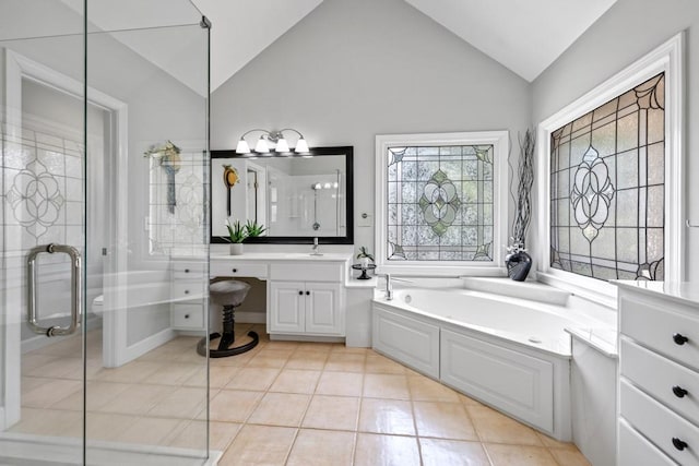
[[263,225],[248,243],[352,244],[353,146],[303,155],[211,152],[211,242],[228,243],[226,220]]

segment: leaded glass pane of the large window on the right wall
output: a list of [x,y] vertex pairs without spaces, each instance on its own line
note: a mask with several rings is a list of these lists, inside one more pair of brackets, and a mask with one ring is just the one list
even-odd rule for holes
[[665,73],[550,135],[550,266],[664,279]]

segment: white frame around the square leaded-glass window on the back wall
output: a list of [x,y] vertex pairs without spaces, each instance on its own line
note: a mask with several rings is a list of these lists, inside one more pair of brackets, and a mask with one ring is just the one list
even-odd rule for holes
[[[388,164],[394,146],[493,145],[493,260],[491,261],[388,261]],[[453,133],[378,134],[376,136],[376,265],[382,273],[426,276],[505,274],[508,231],[507,176],[508,131]]]

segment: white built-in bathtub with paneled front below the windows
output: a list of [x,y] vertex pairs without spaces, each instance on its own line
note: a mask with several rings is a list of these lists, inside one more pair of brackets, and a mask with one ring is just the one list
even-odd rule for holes
[[[554,301],[566,301],[548,289]],[[535,295],[545,297],[541,290],[535,285]],[[570,441],[571,342],[564,328],[579,324],[576,319],[565,304],[464,288],[401,288],[390,301],[377,290],[372,347]]]

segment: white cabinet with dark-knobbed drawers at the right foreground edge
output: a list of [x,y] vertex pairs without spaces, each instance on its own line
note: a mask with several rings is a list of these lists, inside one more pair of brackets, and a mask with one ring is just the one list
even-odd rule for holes
[[699,465],[699,294],[687,285],[619,283],[620,466]]

